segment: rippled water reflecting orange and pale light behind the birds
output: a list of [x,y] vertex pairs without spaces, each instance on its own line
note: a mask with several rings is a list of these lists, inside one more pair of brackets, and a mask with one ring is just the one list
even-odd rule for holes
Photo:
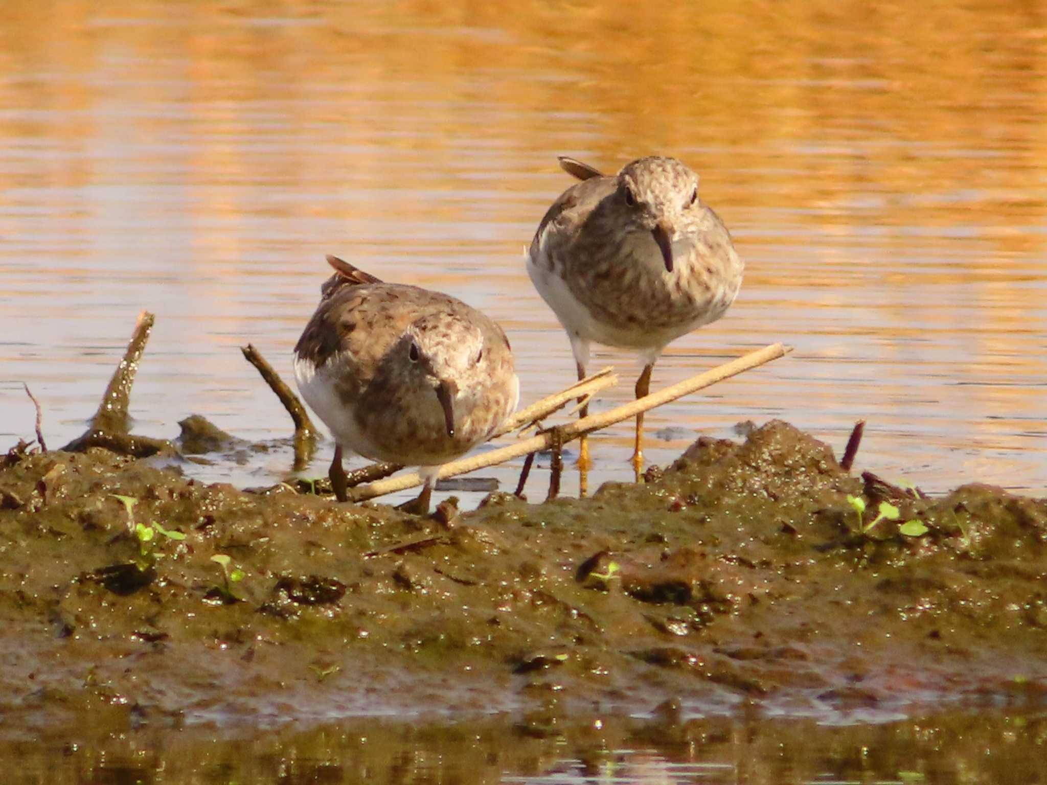
[[[658,151],[701,174],[748,268],[732,311],[673,343],[654,387],[776,340],[797,351],[654,412],[649,459],[771,417],[841,449],[862,418],[863,468],[1042,493],[1045,14],[5,0],[0,442],[31,435],[22,380],[51,444],[76,435],[140,308],[157,313],[140,432],[173,436],[199,412],[286,436],[237,346],[290,378],[327,252],[489,312],[533,401],[573,378],[521,257],[570,182],[555,155],[614,169]],[[594,366],[610,362],[630,378],[597,410],[631,395],[632,358]],[[594,487],[629,477],[627,425],[594,445]],[[274,446],[193,470],[259,485],[289,465]],[[518,466],[487,473],[511,487]]]

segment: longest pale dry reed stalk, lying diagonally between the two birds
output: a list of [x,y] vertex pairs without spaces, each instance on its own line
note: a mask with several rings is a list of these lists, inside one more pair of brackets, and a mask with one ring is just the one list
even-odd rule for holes
[[[675,401],[677,398],[682,398],[690,392],[695,392],[715,384],[716,382],[723,381],[732,376],[737,376],[744,371],[763,365],[772,360],[777,360],[780,357],[784,357],[792,351],[792,346],[784,346],[781,343],[775,343],[756,352],[750,352],[744,357],[739,357],[737,360],[732,360],[731,362],[719,365],[712,371],[707,371],[705,374],[699,374],[698,376],[691,377],[690,379],[685,379],[677,384],[673,384],[672,386],[666,387],[658,392],[652,392],[651,395],[627,403],[624,406],[619,406],[610,411],[604,411],[600,414],[591,414],[589,417],[576,420],[567,425],[562,425],[557,428],[559,431],[558,436],[560,438],[560,444],[566,444],[571,440],[580,436],[582,433],[589,433],[592,431],[599,430],[600,428],[606,428],[608,425],[614,425],[615,423],[620,423],[624,420],[636,417],[641,411],[647,411],[649,409],[653,409],[655,406],[662,406],[663,404]],[[533,436],[532,439],[522,440],[516,444],[511,444],[497,450],[491,450],[490,452],[473,455],[472,457],[452,461],[441,467],[439,476],[453,477],[456,474],[464,474],[465,472],[475,471],[476,469],[482,469],[487,466],[502,464],[506,461],[519,457],[520,455],[526,455],[529,452],[544,450],[553,444],[555,439],[557,439],[556,435],[554,435],[551,431],[547,431],[538,434],[537,436]],[[354,489],[353,491],[350,491],[349,498],[351,501],[362,501],[363,499],[371,499],[375,496],[383,496],[386,493],[395,493],[397,491],[414,488],[416,486],[420,486],[421,484],[422,478],[419,477],[417,473],[404,474],[399,477],[383,479],[378,483],[372,483],[361,488]]]

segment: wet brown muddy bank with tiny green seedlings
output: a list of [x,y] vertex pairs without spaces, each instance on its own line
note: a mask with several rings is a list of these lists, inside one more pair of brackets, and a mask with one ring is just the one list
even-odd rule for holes
[[[450,521],[96,447],[2,463],[3,733],[494,711],[540,733],[593,706],[1047,695],[1047,502],[864,481],[781,422],[644,486],[492,494]],[[863,532],[884,500],[896,519]]]

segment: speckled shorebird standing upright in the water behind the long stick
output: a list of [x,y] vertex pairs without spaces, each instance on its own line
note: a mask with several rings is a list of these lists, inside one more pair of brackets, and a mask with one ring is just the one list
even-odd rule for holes
[[[567,331],[578,378],[592,341],[632,349],[644,363],[636,387],[643,398],[666,345],[731,306],[743,264],[727,227],[698,199],[698,176],[675,158],[640,158],[614,176],[573,158],[560,165],[581,182],[541,219],[528,273]],[[643,423],[637,414],[638,481]],[[584,440],[578,463],[588,468]]]

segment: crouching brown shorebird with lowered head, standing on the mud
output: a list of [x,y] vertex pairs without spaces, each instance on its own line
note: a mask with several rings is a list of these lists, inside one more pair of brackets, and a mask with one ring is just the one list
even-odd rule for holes
[[336,256],[294,346],[294,378],[335,439],[329,476],[347,496],[342,448],[419,466],[424,514],[441,465],[485,442],[519,400],[509,339],[454,297],[384,284]]

